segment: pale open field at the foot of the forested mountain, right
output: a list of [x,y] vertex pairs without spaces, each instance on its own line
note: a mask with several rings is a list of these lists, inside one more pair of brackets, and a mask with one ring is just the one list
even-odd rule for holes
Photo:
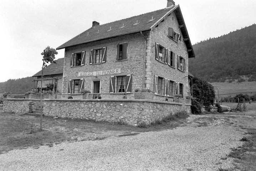
[[[237,83],[210,83],[211,85],[217,87],[219,89],[219,97],[228,97],[231,95],[235,96],[236,94],[248,94],[252,95],[256,93],[256,82],[241,82]],[[215,88],[216,89],[216,88]],[[216,90],[216,97],[218,92]]]

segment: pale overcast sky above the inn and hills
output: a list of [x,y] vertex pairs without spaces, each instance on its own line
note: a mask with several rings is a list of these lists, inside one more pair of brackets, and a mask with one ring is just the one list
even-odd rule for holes
[[[256,22],[256,0],[175,0],[191,43]],[[1,0],[0,82],[41,70],[41,52],[57,48],[92,26],[163,9],[167,0]],[[56,59],[64,57],[58,50]]]

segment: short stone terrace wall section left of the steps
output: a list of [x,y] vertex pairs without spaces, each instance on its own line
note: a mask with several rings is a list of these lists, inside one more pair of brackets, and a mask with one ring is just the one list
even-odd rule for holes
[[4,99],[3,111],[14,112],[19,115],[29,113],[31,102],[36,107],[40,106],[40,100],[36,99]]

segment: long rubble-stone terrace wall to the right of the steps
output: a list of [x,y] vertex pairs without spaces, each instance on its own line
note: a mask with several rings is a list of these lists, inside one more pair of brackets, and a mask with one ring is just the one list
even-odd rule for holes
[[150,124],[170,114],[186,111],[190,105],[156,102],[153,100],[44,100],[44,114],[61,118],[80,118],[95,121],[123,122],[129,125]]

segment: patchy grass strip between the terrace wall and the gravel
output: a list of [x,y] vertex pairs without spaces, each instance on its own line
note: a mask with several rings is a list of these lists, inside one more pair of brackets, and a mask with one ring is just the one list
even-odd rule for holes
[[122,123],[111,124],[67,118],[53,119],[43,116],[43,131],[40,131],[39,116],[0,112],[0,154],[13,149],[39,148],[40,145],[51,147],[62,141],[102,140],[110,136],[131,136],[140,132],[173,129],[183,124],[188,116],[186,113],[177,113],[162,123],[142,128]]

